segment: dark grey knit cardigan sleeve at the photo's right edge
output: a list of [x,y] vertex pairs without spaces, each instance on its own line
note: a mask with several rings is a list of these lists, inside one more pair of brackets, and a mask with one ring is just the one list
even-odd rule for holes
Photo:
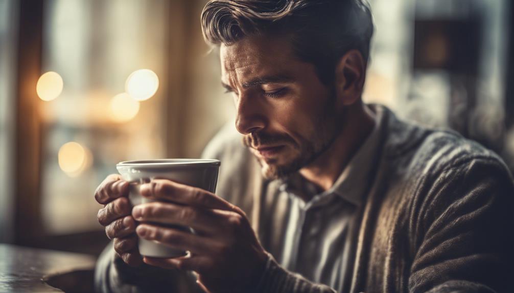
[[471,158],[433,176],[418,211],[423,231],[410,292],[511,292],[514,186],[495,157]]

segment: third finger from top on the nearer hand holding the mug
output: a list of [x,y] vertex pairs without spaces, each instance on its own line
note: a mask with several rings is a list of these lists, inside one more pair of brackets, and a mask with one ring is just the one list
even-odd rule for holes
[[219,246],[206,237],[150,224],[139,224],[136,233],[143,239],[157,241],[175,249],[189,250],[194,254],[213,253],[215,247]]

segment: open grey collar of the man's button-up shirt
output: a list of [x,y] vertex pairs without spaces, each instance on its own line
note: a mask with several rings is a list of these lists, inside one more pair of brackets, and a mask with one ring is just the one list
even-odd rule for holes
[[331,189],[317,194],[314,184],[306,182],[300,173],[295,173],[284,181],[281,190],[295,195],[301,193],[315,195],[313,198],[335,194],[355,205],[360,205],[364,200],[366,189],[369,188],[370,177],[380,147],[380,133],[385,124],[383,107],[377,105],[369,105],[369,107],[375,113],[375,127],[345,166]]

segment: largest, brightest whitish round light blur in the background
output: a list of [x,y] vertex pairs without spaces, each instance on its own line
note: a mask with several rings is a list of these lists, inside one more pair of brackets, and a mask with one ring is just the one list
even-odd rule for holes
[[128,76],[125,91],[135,100],[151,98],[159,88],[159,77],[150,69],[140,69]]

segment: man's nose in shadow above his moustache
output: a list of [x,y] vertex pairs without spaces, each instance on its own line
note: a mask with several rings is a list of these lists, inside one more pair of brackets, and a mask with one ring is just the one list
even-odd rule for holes
[[250,134],[266,127],[266,115],[258,97],[241,95],[236,102],[235,128],[242,134]]

